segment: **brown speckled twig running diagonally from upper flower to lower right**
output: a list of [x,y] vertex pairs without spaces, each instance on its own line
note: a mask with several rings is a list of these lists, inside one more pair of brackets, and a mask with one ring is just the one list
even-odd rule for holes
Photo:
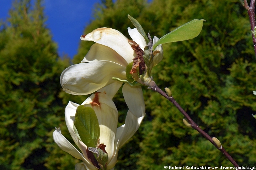
[[228,154],[228,152],[225,151],[224,147],[218,147],[216,145],[216,143],[214,143],[214,141],[212,140],[212,137],[210,137],[210,135],[208,135],[205,131],[203,131],[192,119],[191,117],[182,109],[182,107],[174,100],[174,98],[171,96],[169,97],[164,91],[162,91],[156,84],[155,81],[151,81],[149,83],[149,87],[151,88],[151,90],[158,92],[159,94],[161,94],[162,96],[164,96],[165,98],[167,98],[170,102],[172,102],[172,104],[174,104],[174,106],[176,106],[178,108],[178,110],[185,116],[185,118],[188,120],[188,122],[190,123],[191,127],[195,130],[197,130],[200,134],[202,134],[208,141],[210,141],[216,148],[218,148],[220,150],[220,152],[222,152],[226,158],[228,158],[228,160],[235,166],[235,167],[239,167],[239,165],[235,162],[235,160]]

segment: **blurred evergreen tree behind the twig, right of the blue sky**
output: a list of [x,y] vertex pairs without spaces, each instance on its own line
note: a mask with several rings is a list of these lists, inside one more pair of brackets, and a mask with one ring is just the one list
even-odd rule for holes
[[[164,59],[152,71],[161,89],[169,87],[176,101],[209,135],[217,137],[239,165],[255,165],[256,63],[246,11],[236,0],[104,1],[85,34],[99,27],[128,36],[136,18],[145,32],[159,38],[195,18],[205,19],[197,38],[163,45]],[[89,51],[81,42],[74,63]],[[169,166],[231,166],[183,115],[161,95],[144,90],[146,115],[137,134],[119,151],[117,169],[163,169]],[[123,121],[126,106],[119,91],[114,102]],[[137,159],[136,159],[137,158]]]

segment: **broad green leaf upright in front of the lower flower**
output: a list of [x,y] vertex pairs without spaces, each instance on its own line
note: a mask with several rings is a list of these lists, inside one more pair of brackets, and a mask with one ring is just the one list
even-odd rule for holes
[[[78,106],[75,114],[74,131],[78,132],[78,138],[87,146],[96,148],[100,137],[100,126],[94,109]],[[77,134],[77,133],[76,133]]]

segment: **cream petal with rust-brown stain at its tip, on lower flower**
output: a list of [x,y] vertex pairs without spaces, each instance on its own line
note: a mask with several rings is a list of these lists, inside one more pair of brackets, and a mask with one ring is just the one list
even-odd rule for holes
[[118,111],[114,102],[106,94],[100,92],[91,95],[82,103],[94,109],[100,125],[100,143],[106,145],[108,162],[114,154],[114,139],[117,130]]

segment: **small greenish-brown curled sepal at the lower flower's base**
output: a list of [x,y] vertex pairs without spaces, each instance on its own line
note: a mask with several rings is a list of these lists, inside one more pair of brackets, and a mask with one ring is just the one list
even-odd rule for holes
[[88,148],[94,154],[94,157],[98,161],[101,169],[106,169],[105,165],[108,161],[108,154],[103,152],[100,148]]

